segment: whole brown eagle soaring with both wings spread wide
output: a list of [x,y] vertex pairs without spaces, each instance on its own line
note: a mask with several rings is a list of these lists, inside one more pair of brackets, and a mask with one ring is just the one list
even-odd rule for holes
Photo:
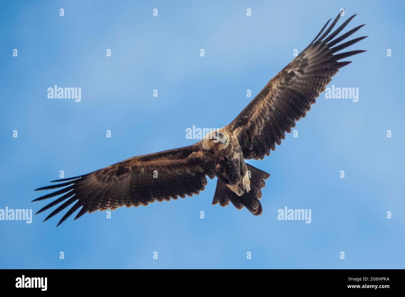
[[339,61],[364,52],[338,53],[367,37],[337,45],[364,26],[336,37],[355,16],[349,17],[332,33],[341,13],[326,29],[329,19],[313,41],[227,126],[209,131],[193,145],[135,156],[91,173],[54,180],[55,184],[36,191],[61,189],[33,201],[62,196],[36,214],[63,202],[45,218],[46,221],[74,203],[59,221],[59,226],[78,209],[75,220],[96,210],[114,210],[124,205],[146,206],[156,200],[191,197],[204,190],[207,177],[217,177],[213,205],[226,206],[231,202],[237,209],[246,207],[255,216],[262,214],[259,199],[264,181],[270,174],[245,160],[269,156],[275,145],[285,139],[286,132],[290,133],[295,127],[296,121],[305,117],[333,75],[351,63]]

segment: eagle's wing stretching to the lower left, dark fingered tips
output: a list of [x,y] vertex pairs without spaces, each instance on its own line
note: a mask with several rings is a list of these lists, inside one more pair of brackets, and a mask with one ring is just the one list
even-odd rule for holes
[[37,212],[43,212],[66,200],[45,220],[76,202],[62,217],[59,226],[80,207],[75,219],[98,209],[116,209],[124,205],[137,207],[155,200],[168,201],[171,198],[177,199],[177,196],[185,198],[185,195],[198,194],[207,185],[207,174],[211,175],[202,152],[196,145],[190,145],[135,156],[92,173],[53,181],[62,183],[37,190],[64,188],[34,201],[63,194]]

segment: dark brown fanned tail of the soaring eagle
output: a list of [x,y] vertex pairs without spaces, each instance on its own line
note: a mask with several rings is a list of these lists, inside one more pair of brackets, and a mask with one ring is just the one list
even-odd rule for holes
[[258,216],[262,214],[263,208],[259,199],[262,198],[262,188],[265,186],[265,179],[270,177],[269,173],[266,173],[256,167],[246,164],[247,170],[250,171],[250,191],[245,192],[242,196],[238,196],[232,192],[226,184],[217,181],[217,188],[215,190],[212,204],[220,203],[221,206],[226,206],[231,202],[237,209],[246,207],[249,212]]

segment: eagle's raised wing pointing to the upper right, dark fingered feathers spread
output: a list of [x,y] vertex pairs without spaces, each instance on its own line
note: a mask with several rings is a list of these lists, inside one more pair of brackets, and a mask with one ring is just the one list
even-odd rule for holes
[[295,122],[305,117],[306,112],[311,109],[311,104],[315,103],[315,98],[325,90],[339,68],[350,63],[338,61],[363,52],[359,50],[336,53],[367,37],[336,45],[364,26],[358,26],[335,38],[354,16],[328,36],[340,14],[322,34],[329,20],[308,47],[273,77],[228,125],[239,139],[245,159],[257,160],[269,156],[270,150],[275,150],[275,144],[280,145],[281,139],[286,137],[286,132],[291,132],[291,128],[295,127]]

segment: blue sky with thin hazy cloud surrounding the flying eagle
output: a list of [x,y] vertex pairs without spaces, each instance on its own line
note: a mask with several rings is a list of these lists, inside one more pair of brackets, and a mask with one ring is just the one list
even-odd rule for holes
[[[212,206],[209,180],[198,196],[111,219],[0,221],[1,268],[404,268],[401,1],[83,2],[2,4],[0,209],[35,213],[45,201],[30,203],[33,190],[60,170],[81,175],[190,145],[193,125],[225,126],[341,8],[343,20],[358,13],[344,32],[367,24],[354,37],[369,37],[350,47],[367,52],[330,86],[359,88],[359,100],[321,94],[298,138],[251,162],[271,173],[261,216]],[[47,98],[53,85],[80,87],[81,102]],[[285,206],[311,209],[311,224],[277,220]]]

